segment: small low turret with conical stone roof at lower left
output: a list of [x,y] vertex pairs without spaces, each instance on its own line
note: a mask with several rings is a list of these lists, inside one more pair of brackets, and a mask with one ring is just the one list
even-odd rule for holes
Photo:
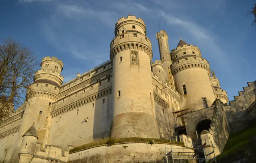
[[21,150],[19,152],[19,163],[30,163],[36,152],[37,131],[34,124],[22,136]]

